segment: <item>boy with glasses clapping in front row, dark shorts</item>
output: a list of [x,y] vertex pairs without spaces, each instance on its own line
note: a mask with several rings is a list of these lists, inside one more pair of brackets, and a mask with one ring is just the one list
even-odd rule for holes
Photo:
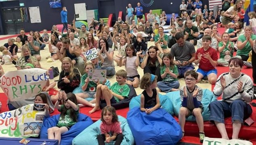
[[203,105],[201,104],[203,91],[196,85],[197,77],[198,74],[195,70],[189,70],[185,74],[186,85],[180,88],[181,107],[178,120],[182,130],[182,136],[184,136],[186,116],[195,116],[199,128],[200,142],[202,143],[205,137],[204,120],[202,117]]

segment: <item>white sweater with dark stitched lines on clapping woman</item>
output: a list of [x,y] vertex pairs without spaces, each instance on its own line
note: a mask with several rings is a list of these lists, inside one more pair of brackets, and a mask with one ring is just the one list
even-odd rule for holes
[[[223,76],[226,80],[226,87],[224,90],[221,89],[220,84],[220,77]],[[239,93],[237,90],[237,83],[239,81],[243,82],[243,93]],[[223,94],[222,94],[223,93]],[[242,100],[246,103],[252,102],[253,98],[253,83],[252,79],[244,74],[241,73],[239,77],[232,78],[230,73],[223,73],[221,74],[215,84],[213,89],[213,94],[218,97],[222,94],[222,100],[228,103],[232,103],[234,100]]]

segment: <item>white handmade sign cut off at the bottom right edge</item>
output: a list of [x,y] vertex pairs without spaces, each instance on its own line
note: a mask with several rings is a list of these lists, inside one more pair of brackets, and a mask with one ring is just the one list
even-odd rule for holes
[[239,139],[227,140],[205,137],[203,145],[252,145],[252,143],[250,141],[243,141]]

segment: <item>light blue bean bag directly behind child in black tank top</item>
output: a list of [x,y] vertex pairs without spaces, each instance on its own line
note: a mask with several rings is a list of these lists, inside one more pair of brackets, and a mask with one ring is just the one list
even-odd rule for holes
[[[173,115],[174,112],[173,112],[172,102],[170,101],[170,99],[166,95],[159,94],[159,100],[160,100],[161,108],[166,110],[171,115]],[[140,107],[140,106],[141,106],[141,94],[132,98],[129,104],[129,109],[131,110],[134,107]]]

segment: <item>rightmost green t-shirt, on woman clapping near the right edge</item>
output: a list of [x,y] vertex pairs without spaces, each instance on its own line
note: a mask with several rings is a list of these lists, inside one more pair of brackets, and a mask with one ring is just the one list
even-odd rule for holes
[[[252,34],[251,39],[255,40],[256,39],[256,35]],[[246,36],[245,35],[240,35],[238,37],[237,41],[241,41],[241,42],[246,41]],[[251,46],[250,42],[247,41],[246,42],[246,46],[242,50],[237,50],[237,56],[239,56],[239,55],[248,56],[249,52],[252,50],[252,47],[253,46]]]

